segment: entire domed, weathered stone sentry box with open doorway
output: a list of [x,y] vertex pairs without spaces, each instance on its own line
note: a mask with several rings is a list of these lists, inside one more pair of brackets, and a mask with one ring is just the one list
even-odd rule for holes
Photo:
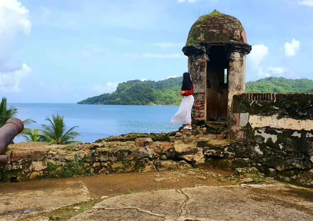
[[245,92],[245,57],[251,46],[243,26],[215,10],[192,25],[182,51],[194,85],[194,123],[227,121],[233,95]]

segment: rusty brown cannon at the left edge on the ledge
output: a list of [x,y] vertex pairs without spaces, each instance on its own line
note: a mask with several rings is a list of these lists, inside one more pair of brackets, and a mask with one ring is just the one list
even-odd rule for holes
[[8,163],[9,157],[2,155],[5,149],[13,141],[14,137],[24,129],[23,121],[18,118],[9,119],[3,127],[0,128],[0,163]]

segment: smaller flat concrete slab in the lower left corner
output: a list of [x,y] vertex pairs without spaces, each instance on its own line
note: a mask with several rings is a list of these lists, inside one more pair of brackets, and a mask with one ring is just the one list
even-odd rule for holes
[[[59,182],[59,185],[42,189],[17,189],[15,192],[0,192],[0,221],[23,218],[24,210],[30,213],[52,211],[67,205],[88,202],[92,198],[80,181]],[[24,183],[26,186],[27,184]],[[27,209],[26,209],[27,208]]]

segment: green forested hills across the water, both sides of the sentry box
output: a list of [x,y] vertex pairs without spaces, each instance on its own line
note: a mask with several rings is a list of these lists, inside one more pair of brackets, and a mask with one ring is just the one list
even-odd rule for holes
[[[161,81],[130,80],[120,83],[112,94],[90,97],[78,104],[113,104],[113,105],[178,105],[182,100],[179,94],[182,77]],[[308,79],[286,79],[268,77],[246,83],[246,92],[280,93],[313,92],[313,81]]]

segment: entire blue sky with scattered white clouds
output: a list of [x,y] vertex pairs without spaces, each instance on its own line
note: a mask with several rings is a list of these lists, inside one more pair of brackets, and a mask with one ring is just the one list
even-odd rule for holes
[[214,9],[244,26],[246,81],[313,79],[313,0],[0,0],[0,96],[76,103],[182,76],[188,32]]

